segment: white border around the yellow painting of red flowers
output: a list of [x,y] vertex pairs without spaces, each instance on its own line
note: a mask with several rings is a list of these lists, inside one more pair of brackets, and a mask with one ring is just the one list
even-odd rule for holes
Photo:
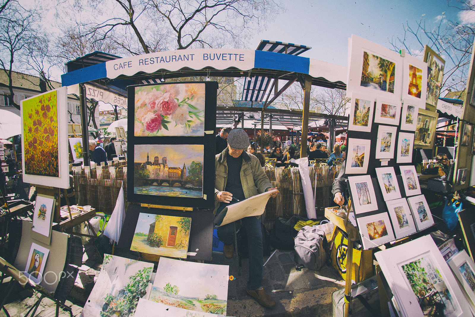
[[[61,87],[54,89],[57,91],[57,161],[58,161],[58,177],[53,176],[43,176],[37,174],[27,174],[25,169],[25,158],[28,156],[28,151],[25,151],[25,142],[21,143],[22,150],[22,166],[23,166],[23,182],[38,184],[44,186],[53,186],[59,188],[68,188],[69,187],[69,152],[68,152],[68,141],[67,141],[67,88]],[[52,91],[47,91],[43,94],[38,94],[36,96],[26,98],[20,101],[21,104],[21,135],[22,138],[25,136],[24,131],[24,118],[23,118],[23,103],[28,102],[28,100],[33,98],[38,98],[38,96],[50,94]],[[47,111],[46,111],[47,113]],[[43,125],[41,125],[43,127]],[[29,132],[28,132],[29,133]],[[33,134],[33,133],[29,133]],[[34,141],[33,141],[34,142]],[[38,157],[38,155],[34,155]]]

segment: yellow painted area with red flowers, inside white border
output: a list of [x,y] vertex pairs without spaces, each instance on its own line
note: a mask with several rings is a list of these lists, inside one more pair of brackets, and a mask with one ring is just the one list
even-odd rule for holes
[[25,173],[59,177],[57,91],[24,100]]

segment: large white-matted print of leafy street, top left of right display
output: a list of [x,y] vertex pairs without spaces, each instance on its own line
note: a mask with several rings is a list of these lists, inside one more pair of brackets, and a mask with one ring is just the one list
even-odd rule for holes
[[352,35],[347,92],[399,98],[402,58],[388,48]]

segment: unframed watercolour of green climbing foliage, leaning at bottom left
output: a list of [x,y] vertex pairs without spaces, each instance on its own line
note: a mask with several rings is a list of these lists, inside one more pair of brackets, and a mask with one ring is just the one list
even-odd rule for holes
[[[128,306],[132,308],[127,316],[132,317],[136,301],[147,294],[152,270],[152,263],[105,254],[99,277],[80,316],[113,316],[115,307]],[[133,296],[125,296],[130,288],[134,289]]]

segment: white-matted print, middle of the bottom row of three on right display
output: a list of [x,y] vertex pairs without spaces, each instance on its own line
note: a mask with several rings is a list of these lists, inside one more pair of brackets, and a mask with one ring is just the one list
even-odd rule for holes
[[396,238],[404,238],[417,231],[406,198],[386,202]]

